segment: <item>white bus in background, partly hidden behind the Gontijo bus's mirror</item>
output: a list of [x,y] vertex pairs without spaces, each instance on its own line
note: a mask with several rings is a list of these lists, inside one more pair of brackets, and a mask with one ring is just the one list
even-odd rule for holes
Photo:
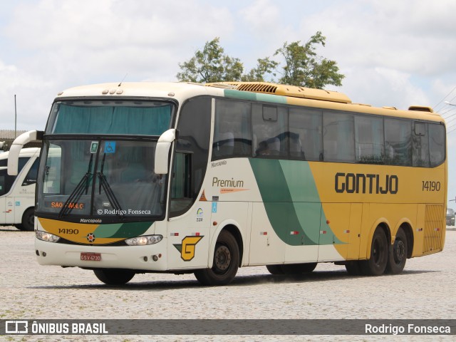
[[0,153],[0,225],[33,231],[38,147],[24,148],[19,155],[19,173],[8,175],[9,152]]

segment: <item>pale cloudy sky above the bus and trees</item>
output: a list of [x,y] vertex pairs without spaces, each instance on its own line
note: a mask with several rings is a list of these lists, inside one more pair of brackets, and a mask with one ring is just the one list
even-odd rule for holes
[[[449,199],[456,197],[454,0],[0,0],[0,129],[43,130],[65,88],[177,81],[178,63],[220,38],[246,69],[285,41],[326,36],[318,53],[353,102],[427,105],[447,118]],[[456,208],[455,202],[450,204]]]

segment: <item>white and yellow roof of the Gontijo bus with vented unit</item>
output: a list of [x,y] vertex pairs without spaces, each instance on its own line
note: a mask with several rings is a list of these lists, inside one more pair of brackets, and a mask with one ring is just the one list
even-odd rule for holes
[[[242,95],[244,94],[244,95]],[[252,94],[252,95],[249,95]],[[255,95],[257,94],[257,95]],[[187,98],[197,95],[212,95],[230,98],[256,99],[272,103],[288,103],[322,109],[343,110],[392,117],[414,118],[444,122],[432,108],[412,105],[408,110],[395,107],[373,107],[353,103],[347,95],[336,91],[287,86],[267,82],[123,82],[99,83],[89,86],[69,88],[58,93],[56,100],[66,98],[169,98],[183,103]]]

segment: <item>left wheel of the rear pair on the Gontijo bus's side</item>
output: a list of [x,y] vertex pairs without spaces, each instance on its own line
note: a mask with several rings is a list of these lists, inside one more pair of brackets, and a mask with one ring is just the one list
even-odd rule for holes
[[388,239],[381,227],[375,229],[371,244],[371,257],[360,261],[361,271],[365,276],[380,276],[388,263]]

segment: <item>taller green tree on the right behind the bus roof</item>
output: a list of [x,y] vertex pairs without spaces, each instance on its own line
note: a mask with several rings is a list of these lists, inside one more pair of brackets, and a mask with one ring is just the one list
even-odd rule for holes
[[323,89],[327,84],[341,86],[345,76],[338,73],[336,61],[316,53],[316,46],[325,46],[325,41],[326,37],[317,31],[304,45],[301,41],[285,42],[284,46],[277,49],[274,56],[281,55],[285,61],[279,83],[318,89]]

